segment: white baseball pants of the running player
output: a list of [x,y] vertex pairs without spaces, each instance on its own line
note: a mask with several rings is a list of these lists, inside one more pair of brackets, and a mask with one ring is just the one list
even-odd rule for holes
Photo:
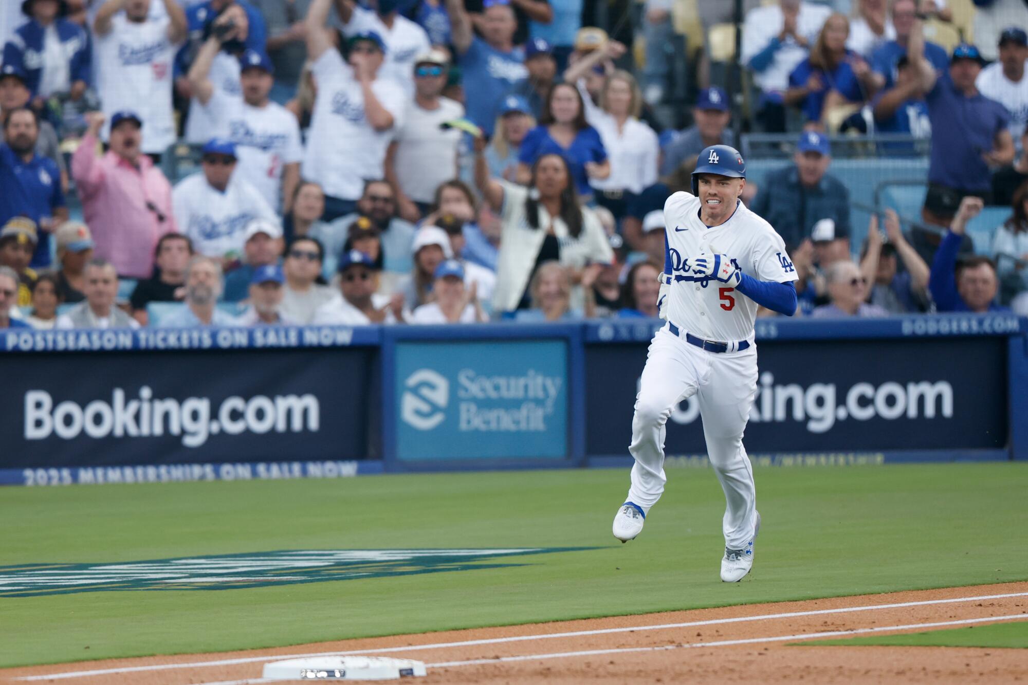
[[725,491],[725,546],[743,549],[754,539],[757,492],[742,432],[757,394],[757,350],[714,353],[657,331],[647,356],[632,443],[635,458],[627,501],[649,512],[664,492],[665,425],[682,400],[697,396],[710,465]]

